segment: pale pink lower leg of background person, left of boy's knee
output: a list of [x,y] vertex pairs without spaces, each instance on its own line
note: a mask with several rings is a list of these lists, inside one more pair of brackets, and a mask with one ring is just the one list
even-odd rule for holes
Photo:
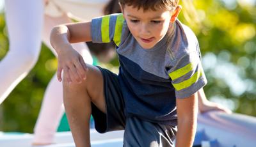
[[49,82],[42,102],[38,119],[34,128],[34,145],[52,144],[54,134],[63,115],[62,83],[56,74]]

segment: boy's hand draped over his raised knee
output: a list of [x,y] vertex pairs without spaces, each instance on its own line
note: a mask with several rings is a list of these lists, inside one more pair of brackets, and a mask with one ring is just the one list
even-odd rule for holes
[[62,81],[61,73],[63,70],[63,79],[68,83],[81,83],[86,79],[86,72],[88,70],[83,57],[76,50],[72,49],[71,45],[65,48],[58,54],[58,81]]

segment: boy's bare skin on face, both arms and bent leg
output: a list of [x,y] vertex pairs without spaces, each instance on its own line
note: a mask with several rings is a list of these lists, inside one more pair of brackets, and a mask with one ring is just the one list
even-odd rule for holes
[[[127,26],[143,49],[151,49],[163,38],[170,22],[177,19],[180,10],[180,6],[177,6],[174,11],[163,9],[144,12],[132,6],[122,8]],[[86,65],[83,58],[70,45],[70,43],[92,40],[90,24],[91,22],[65,24],[54,27],[51,33],[51,44],[58,54],[57,75],[59,81],[63,80],[64,105],[76,146],[90,146],[90,102],[93,102],[102,112],[106,112],[101,72],[94,66]],[[198,95],[200,98],[205,97],[198,91],[188,98],[177,98],[179,131],[176,146],[192,146],[193,144]]]

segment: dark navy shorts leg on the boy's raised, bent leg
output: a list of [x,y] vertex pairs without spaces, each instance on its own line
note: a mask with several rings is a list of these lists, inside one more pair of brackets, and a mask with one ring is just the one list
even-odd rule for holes
[[92,115],[95,121],[95,128],[100,133],[124,130],[124,98],[118,82],[118,76],[99,66],[98,69],[103,77],[106,112],[100,111],[99,107],[95,105],[94,102],[92,103]]

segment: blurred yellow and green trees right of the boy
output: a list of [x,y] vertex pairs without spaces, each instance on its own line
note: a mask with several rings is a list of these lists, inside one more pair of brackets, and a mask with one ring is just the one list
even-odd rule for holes
[[256,116],[256,1],[193,3],[195,11],[183,4],[184,17],[179,18],[198,37],[207,97],[235,112]]

